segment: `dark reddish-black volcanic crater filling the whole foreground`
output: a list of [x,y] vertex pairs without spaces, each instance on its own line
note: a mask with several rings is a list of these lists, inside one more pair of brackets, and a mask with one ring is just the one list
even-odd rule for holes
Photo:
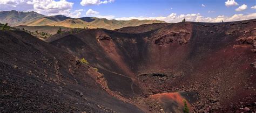
[[[151,28],[79,30],[48,43],[1,31],[3,109],[183,112],[185,100],[191,112],[255,110],[255,19]],[[144,32],[134,32],[139,29]],[[12,101],[32,101],[34,95],[42,100],[30,108]]]

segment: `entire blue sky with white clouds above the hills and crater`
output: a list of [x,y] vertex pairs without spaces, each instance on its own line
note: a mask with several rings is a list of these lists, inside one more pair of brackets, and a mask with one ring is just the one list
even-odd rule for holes
[[256,18],[256,0],[0,0],[0,11],[117,20],[230,22]]

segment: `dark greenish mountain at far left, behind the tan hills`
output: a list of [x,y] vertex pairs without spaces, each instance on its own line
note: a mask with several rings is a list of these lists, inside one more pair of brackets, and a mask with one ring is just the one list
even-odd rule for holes
[[37,12],[21,12],[21,11],[0,11],[0,23],[9,23],[11,26],[16,26],[21,23],[30,22],[33,20],[46,17]]

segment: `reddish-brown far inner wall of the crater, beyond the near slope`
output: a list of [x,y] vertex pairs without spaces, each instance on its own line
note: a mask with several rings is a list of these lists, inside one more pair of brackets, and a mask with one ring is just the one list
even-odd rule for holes
[[[136,103],[154,94],[165,98],[161,93],[186,91],[198,95],[196,101],[187,99],[194,111],[253,111],[255,27],[253,19],[176,23],[138,34],[95,29],[51,44],[85,58],[103,73],[111,90]],[[160,110],[170,111],[172,102]]]

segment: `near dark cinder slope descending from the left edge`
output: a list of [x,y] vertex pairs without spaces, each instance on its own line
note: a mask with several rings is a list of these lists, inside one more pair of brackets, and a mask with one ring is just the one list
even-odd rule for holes
[[142,112],[102,74],[23,31],[0,31],[1,112]]

